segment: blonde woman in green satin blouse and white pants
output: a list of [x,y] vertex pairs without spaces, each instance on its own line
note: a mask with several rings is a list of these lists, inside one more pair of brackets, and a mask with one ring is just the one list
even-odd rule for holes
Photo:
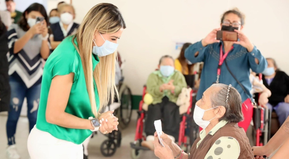
[[36,126],[27,142],[32,159],[82,159],[81,143],[92,131],[118,130],[113,111],[98,112],[112,102],[109,95],[115,95],[117,40],[125,28],[116,6],[98,4],[77,33],[64,39],[49,56]]

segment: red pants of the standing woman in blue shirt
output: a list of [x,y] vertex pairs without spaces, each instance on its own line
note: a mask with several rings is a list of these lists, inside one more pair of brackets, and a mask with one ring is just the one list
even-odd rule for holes
[[[242,127],[245,130],[245,132],[247,132],[247,129],[250,126],[253,117],[253,105],[249,98],[242,103],[242,112],[244,120],[239,122],[238,125]],[[201,130],[203,129],[200,127],[200,131]]]

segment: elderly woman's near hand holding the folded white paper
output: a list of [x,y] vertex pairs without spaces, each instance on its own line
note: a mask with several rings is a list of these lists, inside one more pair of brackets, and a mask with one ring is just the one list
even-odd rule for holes
[[160,144],[158,137],[155,137],[155,156],[157,156],[160,159],[173,159],[173,151],[165,142],[162,142],[164,144],[164,147]]

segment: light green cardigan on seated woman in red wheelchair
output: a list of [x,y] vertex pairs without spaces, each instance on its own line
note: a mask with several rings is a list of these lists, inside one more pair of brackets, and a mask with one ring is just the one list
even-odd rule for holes
[[[160,91],[160,86],[162,84],[168,83],[170,80],[174,80],[173,85],[175,86],[174,93],[169,90],[163,92]],[[164,77],[160,71],[154,71],[149,75],[147,79],[147,93],[153,96],[153,103],[157,104],[162,102],[163,97],[168,97],[169,101],[176,103],[181,89],[187,87],[184,75],[175,70],[175,72],[170,77]]]

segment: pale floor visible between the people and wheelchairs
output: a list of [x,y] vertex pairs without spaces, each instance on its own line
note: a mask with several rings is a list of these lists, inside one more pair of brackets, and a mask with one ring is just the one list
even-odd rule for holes
[[[112,157],[104,157],[100,152],[101,143],[107,139],[102,134],[95,135],[89,143],[88,153],[89,159],[107,159],[107,158],[115,158],[115,159],[129,159],[131,148],[129,143],[134,140],[135,133],[135,125],[136,125],[136,112],[134,112],[134,120],[131,121],[129,127],[125,130],[122,130],[122,140],[121,147],[116,150],[116,153]],[[5,149],[7,147],[7,138],[6,138],[6,121],[7,116],[0,115],[0,159],[5,159]],[[20,117],[17,129],[16,129],[16,146],[19,154],[21,155],[21,159],[28,159],[29,154],[27,151],[27,138],[28,138],[28,119],[27,117]],[[140,159],[157,159],[154,156],[152,151],[144,151]]]

